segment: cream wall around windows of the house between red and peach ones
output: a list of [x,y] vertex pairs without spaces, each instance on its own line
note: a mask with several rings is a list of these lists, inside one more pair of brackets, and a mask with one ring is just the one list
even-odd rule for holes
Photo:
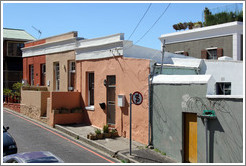
[[[50,81],[48,91],[56,91],[54,88],[55,76],[54,76],[54,62],[59,62],[60,66],[60,90],[68,91],[68,71],[69,61],[75,60],[74,51],[62,52],[56,54],[46,55],[46,81]],[[46,84],[47,85],[47,84]]]

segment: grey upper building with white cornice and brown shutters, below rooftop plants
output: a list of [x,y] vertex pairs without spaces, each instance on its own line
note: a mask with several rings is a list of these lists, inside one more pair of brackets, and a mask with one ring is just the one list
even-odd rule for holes
[[163,34],[159,38],[165,50],[201,59],[230,57],[243,60],[243,23],[230,22],[182,32]]

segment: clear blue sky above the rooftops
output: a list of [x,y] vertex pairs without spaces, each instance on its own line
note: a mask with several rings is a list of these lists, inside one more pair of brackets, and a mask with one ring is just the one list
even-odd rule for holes
[[[62,3],[4,3],[3,27],[24,29],[36,38],[39,37],[39,33],[33,27],[42,32],[40,38],[78,31],[79,37],[88,39],[124,33],[127,40],[149,4],[152,3],[138,29],[130,38],[135,43],[159,18],[167,8],[168,2],[170,1],[164,1],[164,3],[151,1],[142,3],[65,3],[64,1]],[[173,24],[202,21],[202,12],[205,7],[212,10],[235,7],[226,7],[235,3],[225,2],[173,3],[172,1],[165,14],[137,45],[161,49],[158,37],[175,32]],[[242,5],[237,7],[242,8]]]

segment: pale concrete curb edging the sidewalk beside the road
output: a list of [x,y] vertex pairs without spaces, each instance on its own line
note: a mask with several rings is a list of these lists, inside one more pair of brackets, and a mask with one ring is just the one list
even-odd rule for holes
[[104,151],[105,153],[109,154],[110,156],[112,156],[114,158],[117,158],[119,160],[126,160],[126,161],[128,161],[130,163],[139,163],[138,161],[136,161],[136,160],[134,160],[132,158],[129,158],[126,155],[123,155],[120,152],[113,151],[113,150],[111,150],[109,148],[106,148],[106,147],[102,146],[101,144],[99,144],[97,142],[94,142],[94,141],[91,141],[91,140],[87,139],[84,136],[78,135],[75,132],[73,132],[73,131],[71,131],[69,129],[66,129],[66,128],[60,126],[60,125],[56,124],[55,125],[55,129],[57,129],[57,130],[59,130],[59,131],[61,131],[63,133],[66,133],[66,134],[68,134],[68,135],[70,135],[72,137],[78,138],[80,141],[85,142],[85,143],[87,143],[87,144],[89,144],[89,145],[91,145],[91,146],[93,146],[93,147],[95,147],[95,148],[97,148],[97,149],[99,149],[101,151]]

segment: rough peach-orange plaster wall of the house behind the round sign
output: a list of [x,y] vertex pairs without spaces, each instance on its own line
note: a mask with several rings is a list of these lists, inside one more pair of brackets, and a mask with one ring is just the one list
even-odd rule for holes
[[[87,110],[90,124],[102,128],[107,123],[107,111],[102,110],[99,103],[106,103],[106,87],[103,82],[107,75],[116,75],[116,112],[115,127],[119,135],[129,138],[129,94],[139,91],[143,95],[143,103],[132,105],[132,138],[135,141],[148,143],[148,75],[150,61],[114,57],[101,60],[77,61],[77,89],[81,92],[84,105],[87,106],[86,73],[94,72],[94,111]],[[118,106],[118,95],[125,95],[125,107]]]

